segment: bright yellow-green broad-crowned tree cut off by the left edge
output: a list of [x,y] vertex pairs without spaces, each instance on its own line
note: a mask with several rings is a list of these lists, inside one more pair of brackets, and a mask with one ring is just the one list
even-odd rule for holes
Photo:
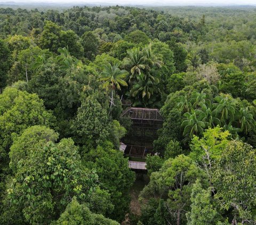
[[26,128],[52,125],[52,114],[45,110],[43,101],[36,94],[8,87],[0,95],[0,105],[0,139],[6,149]]

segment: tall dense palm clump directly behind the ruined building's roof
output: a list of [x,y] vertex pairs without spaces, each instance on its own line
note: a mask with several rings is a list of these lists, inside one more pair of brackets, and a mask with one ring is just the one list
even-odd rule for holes
[[159,106],[157,98],[161,97],[161,90],[157,86],[161,76],[157,68],[161,68],[163,62],[158,54],[154,54],[151,44],[142,50],[133,48],[127,51],[127,57],[123,64],[130,74],[130,97],[133,98],[133,106]]

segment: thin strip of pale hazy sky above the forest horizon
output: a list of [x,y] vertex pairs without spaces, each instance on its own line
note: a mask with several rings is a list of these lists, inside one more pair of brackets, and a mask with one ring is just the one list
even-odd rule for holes
[[256,0],[0,0],[0,2],[22,2],[22,3],[110,3],[110,4],[132,4],[132,5],[256,5]]

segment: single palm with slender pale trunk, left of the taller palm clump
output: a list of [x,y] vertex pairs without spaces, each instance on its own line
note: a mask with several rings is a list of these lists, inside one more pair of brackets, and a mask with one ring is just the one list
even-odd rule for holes
[[127,75],[126,70],[120,70],[119,64],[111,65],[110,63],[107,65],[103,65],[103,71],[100,73],[100,81],[105,81],[103,84],[103,88],[109,89],[111,88],[111,102],[110,109],[114,103],[113,93],[117,88],[121,90],[121,86],[128,86],[124,78]]

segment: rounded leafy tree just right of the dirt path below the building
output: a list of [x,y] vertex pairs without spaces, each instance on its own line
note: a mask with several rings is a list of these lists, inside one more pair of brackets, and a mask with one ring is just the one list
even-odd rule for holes
[[158,204],[163,207],[161,213],[164,213],[164,209],[168,212],[163,218],[165,223],[185,224],[184,212],[189,210],[190,195],[196,179],[204,181],[205,173],[188,156],[179,155],[166,160],[158,172],[151,173],[150,182],[142,190],[141,197],[159,196]]

